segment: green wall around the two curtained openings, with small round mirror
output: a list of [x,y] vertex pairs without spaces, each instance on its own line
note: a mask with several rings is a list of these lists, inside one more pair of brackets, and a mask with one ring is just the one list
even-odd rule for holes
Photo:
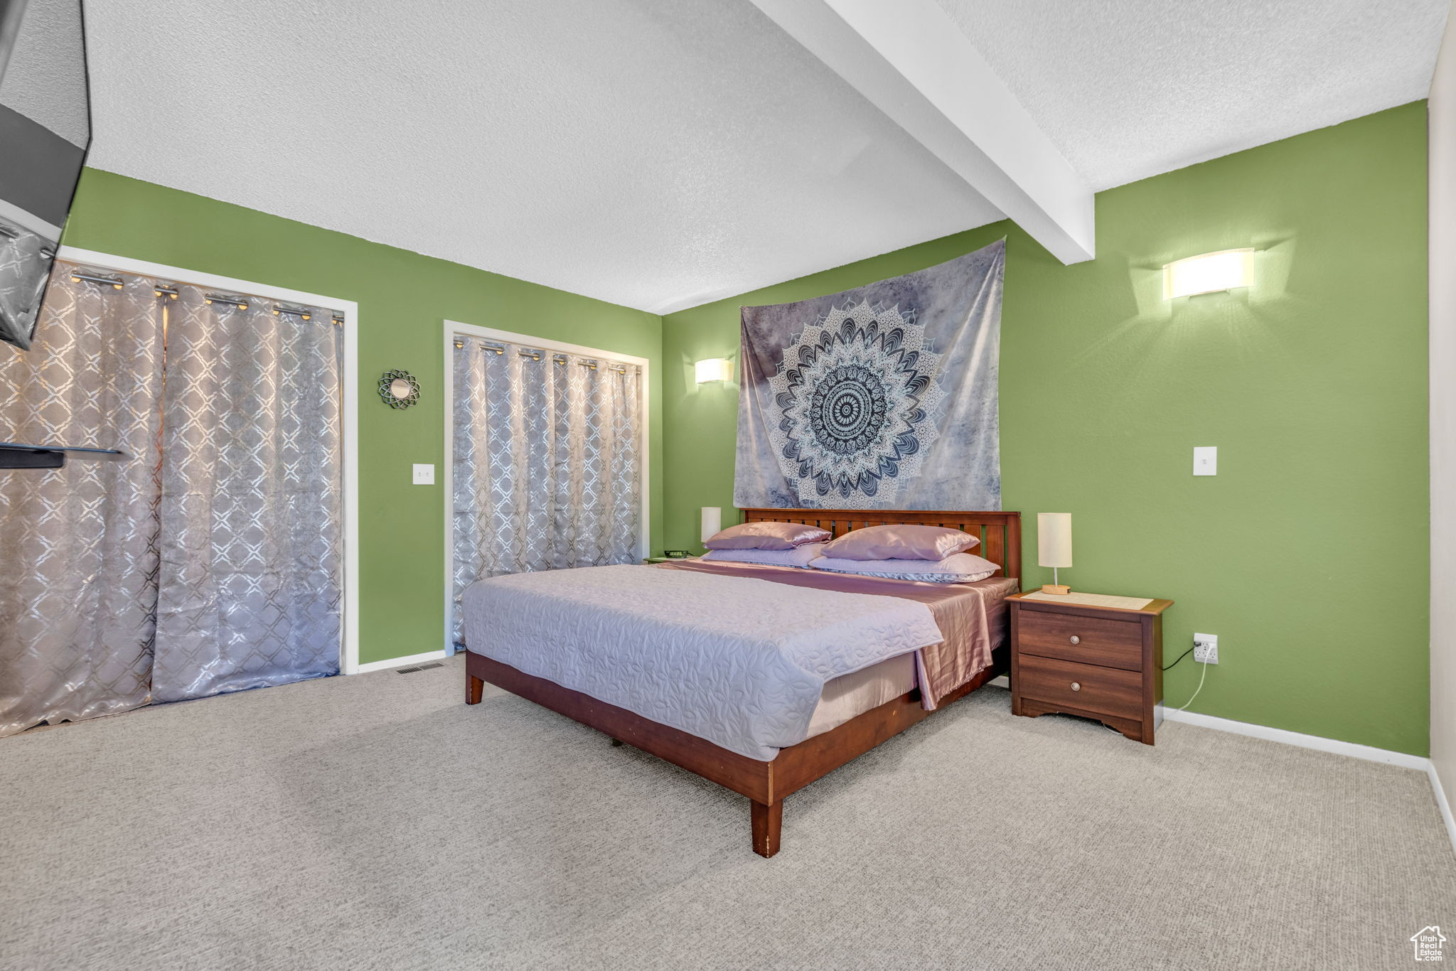
[[[482,230],[485,231],[485,230]],[[87,169],[64,242],[360,304],[360,661],[444,643],[444,320],[651,360],[652,536],[662,523],[661,317],[199,195]],[[374,380],[403,368],[419,405],[392,411]],[[661,549],[660,539],[654,547]],[[400,568],[399,565],[405,566]]]

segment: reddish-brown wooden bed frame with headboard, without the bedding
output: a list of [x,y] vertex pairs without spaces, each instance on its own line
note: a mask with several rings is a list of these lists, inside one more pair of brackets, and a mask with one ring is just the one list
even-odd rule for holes
[[[834,536],[885,523],[949,526],[980,536],[981,544],[976,547],[976,555],[999,565],[1000,575],[1021,576],[1021,512],[744,510],[743,514],[745,523],[810,523],[830,530]],[[997,648],[992,667],[941,699],[936,710],[1005,674],[1009,655],[1009,645]],[[773,761],[759,761],[467,649],[466,705],[480,702],[485,681],[596,728],[607,734],[613,745],[626,742],[748,796],[753,808],[753,852],[760,856],[773,856],[779,852],[783,796],[933,715],[920,708],[920,690],[914,689],[849,719],[839,728],[807,738],[798,745],[780,748]]]

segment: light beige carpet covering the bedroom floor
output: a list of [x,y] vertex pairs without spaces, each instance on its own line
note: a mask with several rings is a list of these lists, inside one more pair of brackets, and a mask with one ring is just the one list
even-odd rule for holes
[[0,740],[4,968],[1406,968],[1427,777],[983,689],[748,804],[459,659]]

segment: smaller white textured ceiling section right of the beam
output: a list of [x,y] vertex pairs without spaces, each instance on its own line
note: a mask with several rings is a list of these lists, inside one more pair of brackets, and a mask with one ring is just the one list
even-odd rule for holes
[[1096,191],[1425,98],[1447,0],[936,0]]

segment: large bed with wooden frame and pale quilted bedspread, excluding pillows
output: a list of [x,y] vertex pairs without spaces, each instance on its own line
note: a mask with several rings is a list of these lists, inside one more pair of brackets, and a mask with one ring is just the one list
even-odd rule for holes
[[[978,536],[981,544],[974,552],[996,563],[999,571],[976,584],[923,584],[871,581],[811,569],[735,568],[690,560],[660,566],[556,571],[552,582],[574,581],[569,594],[565,590],[542,591],[545,578],[540,574],[518,575],[533,576],[530,582],[536,584],[536,590],[526,590],[524,581],[523,590],[508,590],[507,584],[499,582],[507,578],[480,581],[467,590],[464,601],[466,703],[479,703],[485,683],[489,681],[604,732],[614,745],[633,745],[732,789],[750,801],[753,850],[760,856],[773,856],[779,852],[785,796],[1008,671],[1005,597],[1019,590],[1021,514],[894,510],[743,510],[743,514],[747,523],[807,523],[830,530],[836,537],[885,523],[948,526]],[[626,595],[620,604],[600,601],[594,607],[587,592],[577,595],[578,590],[593,587],[581,582],[587,578],[604,582],[603,597],[613,595],[612,582],[630,581],[633,590],[644,584],[652,590],[661,588],[658,607],[651,613],[638,607],[633,613]],[[715,677],[738,677],[754,683],[759,694],[745,696],[740,706],[756,713],[759,721],[748,716],[740,719],[741,712],[729,702],[700,705],[721,709],[712,712],[713,718],[689,703],[677,703],[674,708],[670,703],[673,699],[658,697],[671,694],[674,680],[654,677],[660,674],[655,665],[674,662],[674,658],[662,651],[642,654],[646,649],[642,645],[670,642],[673,632],[678,629],[674,625],[684,630],[690,626],[692,617],[686,614],[692,610],[684,614],[677,603],[678,597],[703,597],[705,591],[713,594],[716,590],[727,591],[725,609],[734,609],[732,597],[750,594],[763,603],[761,610],[743,610],[738,606],[735,623],[744,629],[744,639],[738,643],[729,641],[728,648],[735,651],[741,651],[744,643],[757,643],[754,623],[760,629],[764,623],[776,623],[773,619],[783,616],[785,606],[792,610],[796,604],[802,604],[802,623],[811,629],[808,633],[821,633],[821,641],[831,642],[844,633],[858,633],[855,625],[859,622],[850,609],[863,609],[866,626],[885,626],[879,638],[884,643],[877,642],[878,646],[872,651],[850,652],[847,658],[826,662],[840,664],[844,673],[817,686],[811,675],[801,677],[798,670],[782,675],[785,683],[779,684],[773,681],[779,675],[772,665],[763,671],[716,673]],[[472,592],[478,595],[472,597]],[[494,598],[486,600],[488,594]],[[914,625],[909,611],[923,613],[923,607],[911,606],[911,601],[927,606],[930,613],[926,616],[935,617],[938,626],[932,626],[932,638],[943,636],[941,630],[949,630],[954,636],[926,643],[923,629],[911,630]],[[696,607],[711,609],[702,603]],[[776,614],[776,609],[780,613]],[[839,629],[831,626],[824,610],[843,614]],[[574,616],[577,626],[571,626]],[[817,625],[824,626],[814,630]],[[616,633],[609,636],[612,630]],[[623,633],[628,636],[622,636]],[[514,652],[510,649],[513,643],[517,646]],[[521,645],[531,649],[523,652]],[[577,651],[604,661],[604,674],[598,674],[597,680],[606,677],[607,690],[598,690],[597,683],[590,678],[582,680],[569,665],[561,670],[552,667],[559,651]],[[687,652],[687,645],[683,651]],[[808,655],[820,658],[824,652],[820,645]],[[527,673],[523,667],[534,668],[534,673]],[[613,687],[610,678],[617,668],[636,670],[638,677],[628,687]],[[597,694],[617,702],[626,700],[623,705],[609,703],[562,681],[591,687]],[[644,684],[648,687],[642,687]],[[817,697],[810,699],[814,702],[812,708],[805,710],[811,689]],[[761,709],[772,709],[776,699],[783,699],[785,710],[791,710],[794,718],[780,724],[763,715]],[[718,722],[731,722],[732,731]]]

